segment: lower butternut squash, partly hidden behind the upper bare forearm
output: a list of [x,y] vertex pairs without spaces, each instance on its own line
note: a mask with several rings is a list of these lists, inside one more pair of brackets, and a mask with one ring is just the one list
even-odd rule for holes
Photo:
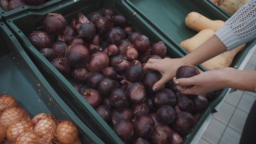
[[[184,48],[186,51],[188,51],[190,53],[193,50],[195,50],[196,48],[198,48],[198,46],[200,46],[201,44],[206,42],[206,40],[208,40],[213,35],[214,35],[214,30],[205,29],[205,30],[198,32],[198,34],[196,34],[192,38],[182,41],[180,43],[180,46],[182,46],[182,48]],[[232,61],[233,61],[234,57],[236,56],[236,54],[238,52],[240,52],[245,47],[245,45],[246,44],[243,44],[243,45],[239,46],[238,48],[235,48],[234,50],[224,52],[224,53],[202,63],[201,65],[204,68],[207,68],[208,70],[220,70],[220,69],[229,67],[232,64]]]

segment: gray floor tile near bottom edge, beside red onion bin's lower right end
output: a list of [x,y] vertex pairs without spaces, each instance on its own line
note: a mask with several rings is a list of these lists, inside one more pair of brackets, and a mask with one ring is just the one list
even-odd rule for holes
[[204,140],[207,142],[210,142],[210,144],[218,144],[222,134],[224,134],[225,129],[225,124],[213,118],[202,138],[204,138]]

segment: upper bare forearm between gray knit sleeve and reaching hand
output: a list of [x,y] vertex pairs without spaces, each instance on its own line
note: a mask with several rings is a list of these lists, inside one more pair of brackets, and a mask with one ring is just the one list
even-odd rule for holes
[[214,35],[209,40],[200,45],[196,50],[187,54],[182,59],[184,65],[198,66],[223,52],[226,52],[226,46],[220,41],[220,39]]

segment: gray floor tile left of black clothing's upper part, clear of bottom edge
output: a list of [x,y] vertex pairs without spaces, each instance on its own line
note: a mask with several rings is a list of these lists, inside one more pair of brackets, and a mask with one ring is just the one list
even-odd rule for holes
[[228,126],[242,133],[247,115],[248,113],[236,108]]

